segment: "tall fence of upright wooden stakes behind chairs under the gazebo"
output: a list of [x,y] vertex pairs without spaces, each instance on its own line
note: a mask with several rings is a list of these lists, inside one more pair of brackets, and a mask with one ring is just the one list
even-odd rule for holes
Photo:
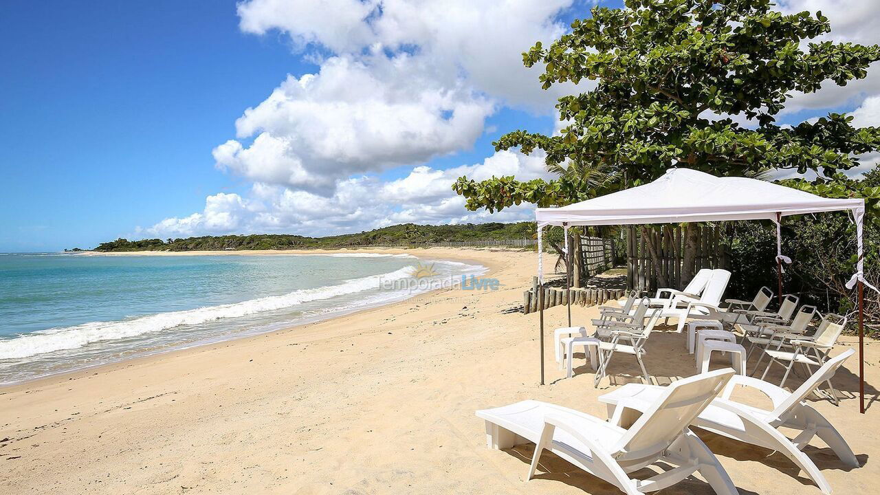
[[[719,241],[722,228],[705,224],[691,226],[699,233],[691,272],[701,268],[726,268],[727,254]],[[678,225],[627,225],[627,289],[656,290],[661,276],[667,286],[680,289],[681,274],[687,271],[685,237],[684,229]],[[656,257],[650,247],[654,248]]]

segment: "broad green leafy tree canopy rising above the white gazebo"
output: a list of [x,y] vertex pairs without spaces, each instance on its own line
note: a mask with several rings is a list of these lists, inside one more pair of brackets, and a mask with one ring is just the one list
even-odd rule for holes
[[776,123],[792,92],[864,78],[880,46],[812,42],[831,31],[828,19],[783,15],[770,0],[625,4],[593,8],[549,47],[538,42],[523,54],[527,67],[544,64],[545,89],[568,82],[591,88],[559,100],[559,134],[516,130],[494,143],[496,151],[544,151],[559,178],[460,177],[452,188],[468,209],[574,203],[653,181],[671,166],[737,176],[812,171],[817,181],[788,185],[825,196],[880,196],[876,188],[853,188],[842,174],[858,165],[857,155],[880,149],[880,129],[855,128],[852,116],[840,114],[794,127]]

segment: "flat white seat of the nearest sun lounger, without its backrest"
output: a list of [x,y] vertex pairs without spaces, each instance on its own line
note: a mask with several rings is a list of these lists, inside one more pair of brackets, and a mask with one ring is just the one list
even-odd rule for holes
[[[564,418],[568,425],[576,426],[578,431],[589,432],[590,440],[596,441],[607,451],[612,451],[615,444],[627,432],[627,430],[598,417],[540,401],[522,401],[494,409],[477,411],[478,417],[514,432],[532,443],[538,443],[540,440],[541,432],[544,429],[544,418],[547,414]],[[561,448],[575,457],[592,459],[590,448],[564,430],[557,429],[554,432],[553,440],[554,448]]]

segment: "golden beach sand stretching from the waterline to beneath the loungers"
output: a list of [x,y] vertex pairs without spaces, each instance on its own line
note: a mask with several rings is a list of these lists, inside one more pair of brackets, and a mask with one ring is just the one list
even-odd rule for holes
[[[638,380],[634,360],[620,356],[609,367],[611,378],[593,388],[581,355],[579,374],[564,379],[550,341],[552,330],[564,326],[566,308],[554,307],[546,312],[547,384],[539,386],[538,314],[511,311],[531,284],[535,255],[386,252],[481,262],[502,289],[434,292],[0,388],[0,493],[619,493],[553,454],[526,482],[532,446],[488,449],[473,414],[539,399],[605,417],[596,397]],[[595,312],[573,307],[572,317],[586,322]],[[663,329],[650,337],[645,363],[661,384],[695,372],[683,342]],[[845,343],[854,346],[855,339]],[[847,468],[821,440],[811,442],[806,452],[838,494],[876,493],[880,486],[880,404],[873,403],[880,347],[869,341],[866,349],[868,413],[858,413],[854,359],[834,379],[845,395],[840,406],[812,403],[862,462]],[[800,382],[795,377],[788,385]],[[743,400],[766,407],[754,395]],[[820,493],[781,454],[700,436],[741,493]],[[711,492],[697,478],[662,491]]]

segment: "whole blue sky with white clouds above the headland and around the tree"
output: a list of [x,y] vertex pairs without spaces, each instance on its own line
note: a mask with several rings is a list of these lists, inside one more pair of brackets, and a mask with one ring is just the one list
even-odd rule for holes
[[[4,2],[0,252],[531,219],[529,205],[466,211],[451,183],[547,176],[539,155],[491,143],[557,128],[575,88],[541,90],[520,54],[592,4]],[[823,11],[834,41],[880,42],[877,2],[777,8]],[[780,120],[829,111],[880,125],[880,67],[794,94]]]

